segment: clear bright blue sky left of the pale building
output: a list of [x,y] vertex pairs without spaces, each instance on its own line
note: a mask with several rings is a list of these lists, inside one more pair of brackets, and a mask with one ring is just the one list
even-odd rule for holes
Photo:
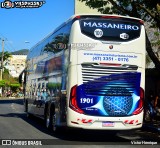
[[0,7],[0,52],[2,39],[5,51],[30,49],[72,15],[74,0],[46,0],[40,8]]

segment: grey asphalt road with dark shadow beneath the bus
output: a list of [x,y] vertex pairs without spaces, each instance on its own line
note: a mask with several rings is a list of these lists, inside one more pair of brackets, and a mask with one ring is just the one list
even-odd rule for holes
[[[88,130],[62,130],[53,134],[45,128],[42,120],[27,118],[23,108],[22,99],[0,100],[0,143],[2,140],[40,141],[43,145],[76,145],[77,147],[113,147],[122,145],[136,147],[154,147],[160,145],[160,135],[144,130],[136,131],[88,131]],[[15,143],[16,144],[16,143]],[[46,147],[45,146],[45,147]]]

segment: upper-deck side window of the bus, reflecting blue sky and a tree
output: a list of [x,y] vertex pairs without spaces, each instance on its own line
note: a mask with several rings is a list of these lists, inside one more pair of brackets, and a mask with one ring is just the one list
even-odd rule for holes
[[65,45],[65,47],[68,45],[71,25],[72,22],[68,22],[68,24],[61,26],[50,36],[40,41],[30,50],[27,59],[31,59],[45,53],[54,54],[60,52],[63,49],[66,49],[62,45]]

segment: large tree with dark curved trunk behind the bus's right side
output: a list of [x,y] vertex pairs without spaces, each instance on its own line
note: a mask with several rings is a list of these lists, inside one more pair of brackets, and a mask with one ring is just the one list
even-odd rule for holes
[[[87,6],[98,9],[102,14],[119,14],[141,18],[160,29],[160,0],[79,0]],[[157,39],[156,45],[159,44]],[[147,53],[155,67],[160,70],[160,61],[153,52],[152,43],[146,35]]]

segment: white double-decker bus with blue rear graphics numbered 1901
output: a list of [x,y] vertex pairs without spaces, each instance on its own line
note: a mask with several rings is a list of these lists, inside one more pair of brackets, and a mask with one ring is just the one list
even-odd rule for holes
[[143,21],[76,15],[35,45],[25,72],[27,114],[46,127],[130,130],[143,124]]

